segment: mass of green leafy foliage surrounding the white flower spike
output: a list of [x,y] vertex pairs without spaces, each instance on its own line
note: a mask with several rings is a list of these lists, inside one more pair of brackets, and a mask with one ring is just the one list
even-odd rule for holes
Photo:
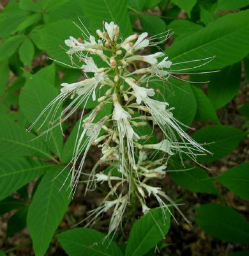
[[[36,131],[27,132],[26,128],[56,97],[61,81],[72,83],[80,77],[79,71],[57,63],[70,64],[59,45],[64,45],[69,36],[79,37],[80,31],[72,20],[77,22],[79,17],[92,33],[102,26],[102,20],[113,20],[122,36],[133,31],[156,35],[171,29],[174,42],[170,41],[172,44],[165,52],[173,62],[215,56],[215,60],[198,71],[220,72],[190,76],[192,81],[208,79],[208,87],[176,81],[174,93],[164,95],[170,106],[174,106],[174,116],[180,122],[186,125],[201,122],[203,128],[192,136],[199,143],[208,143],[206,148],[213,152],[213,156],[198,159],[208,166],[231,154],[248,135],[248,103],[241,106],[240,115],[245,120],[241,129],[221,124],[217,115],[238,94],[242,71],[249,81],[248,4],[248,0],[12,0],[1,10],[0,214],[17,210],[8,220],[0,255],[16,249],[6,246],[8,237],[26,226],[37,256],[45,255],[53,237],[70,256],[154,255],[156,244],[162,250],[167,246],[162,241],[170,229],[170,216],[165,223],[160,209],[153,209],[135,222],[127,244],[116,243],[115,239],[100,243],[105,234],[91,228],[66,231],[58,228],[71,198],[68,191],[59,191],[66,172],[57,179],[54,177],[72,156],[75,132],[66,141],[59,129],[52,132],[50,140],[43,137],[33,140]],[[56,61],[44,58],[45,54]],[[161,88],[162,84],[153,86]],[[89,104],[88,108],[92,107]],[[179,170],[176,163],[170,164],[172,170]],[[206,234],[229,243],[248,244],[249,222],[227,206],[220,195],[223,186],[239,198],[249,200],[248,170],[246,162],[218,177],[211,178],[209,171],[200,167],[172,172],[170,177],[189,191],[220,198],[220,204],[210,202],[196,209],[195,222]],[[32,192],[27,191],[29,182],[34,184]],[[248,255],[248,252],[229,255]]]

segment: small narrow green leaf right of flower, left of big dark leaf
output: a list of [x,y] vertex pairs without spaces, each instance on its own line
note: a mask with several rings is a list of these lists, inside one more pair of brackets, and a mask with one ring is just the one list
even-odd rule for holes
[[211,101],[206,94],[195,86],[192,86],[193,93],[197,102],[197,109],[195,113],[195,120],[198,121],[214,121],[220,123],[218,116],[216,115],[215,108],[211,104]]

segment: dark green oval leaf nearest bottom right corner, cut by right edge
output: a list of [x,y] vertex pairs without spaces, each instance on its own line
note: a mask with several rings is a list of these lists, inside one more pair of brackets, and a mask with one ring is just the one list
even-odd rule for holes
[[209,235],[232,243],[249,243],[249,222],[225,205],[206,204],[197,208],[195,222]]

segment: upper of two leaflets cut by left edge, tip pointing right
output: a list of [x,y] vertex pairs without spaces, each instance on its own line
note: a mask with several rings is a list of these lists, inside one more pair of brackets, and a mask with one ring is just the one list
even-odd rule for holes
[[[0,115],[0,156],[39,156],[52,159],[47,147],[34,134],[27,132],[23,127],[10,118]],[[36,138],[36,140],[34,140]]]

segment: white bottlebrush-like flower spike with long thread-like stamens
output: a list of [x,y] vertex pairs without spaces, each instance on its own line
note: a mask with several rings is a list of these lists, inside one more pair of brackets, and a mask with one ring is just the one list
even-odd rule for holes
[[[84,27],[84,40],[72,36],[65,40],[69,47],[66,53],[70,56],[72,65],[80,68],[87,78],[77,83],[61,84],[61,93],[43,110],[34,124],[46,113],[53,113],[50,120],[52,126],[47,130],[50,131],[57,125],[61,126],[75,111],[81,111],[80,126],[83,131],[79,127],[73,159],[68,164],[68,177],[72,177],[72,191],[75,191],[81,175],[88,177],[86,190],[94,189],[103,182],[108,184],[108,195],[97,209],[90,212],[87,219],[90,220],[88,224],[92,224],[103,212],[112,208],[110,234],[119,227],[132,196],[140,202],[144,214],[149,211],[146,203],[149,196],[154,196],[162,207],[169,209],[166,204],[169,202],[178,209],[162,189],[149,185],[149,181],[165,176],[170,156],[179,154],[181,157],[185,154],[196,161],[197,155],[208,151],[183,131],[181,124],[173,116],[174,108],[169,108],[167,102],[153,99],[156,92],[153,88],[148,88],[151,79],[168,81],[170,76],[175,77],[174,74],[188,69],[174,69],[174,66],[182,63],[172,63],[162,51],[149,55],[139,54],[140,50],[148,46],[162,44],[169,37],[169,32],[151,38],[148,38],[147,33],[122,38],[119,27],[114,22],[105,22],[103,25],[103,31],[96,31],[98,39]],[[75,58],[84,64],[77,65]],[[211,58],[197,60],[195,67],[200,66],[200,61],[204,65],[210,60]],[[137,68],[140,61],[144,65]],[[96,91],[103,86],[107,88],[105,94],[97,97]],[[58,117],[57,111],[68,97],[72,100]],[[84,109],[90,98],[98,102],[98,106],[84,118]],[[112,113],[102,115],[97,120],[97,115],[102,113],[106,104],[112,105]],[[147,144],[150,134],[140,132],[140,127],[146,125],[160,127],[163,140]],[[84,161],[92,145],[101,148],[102,156],[94,164],[91,173],[86,173],[83,172]],[[158,152],[156,157],[155,151]],[[108,172],[100,172],[103,166],[111,168],[107,168]]]

